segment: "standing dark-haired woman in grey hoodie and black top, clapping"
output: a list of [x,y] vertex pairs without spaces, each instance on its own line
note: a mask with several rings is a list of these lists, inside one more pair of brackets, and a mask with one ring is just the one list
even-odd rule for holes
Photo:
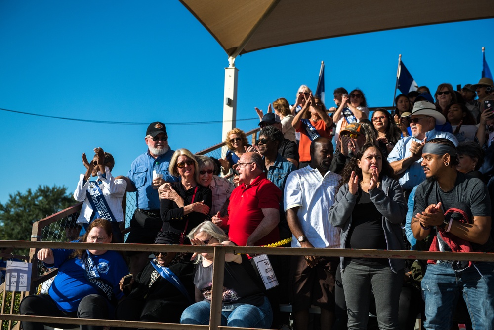
[[[376,145],[364,145],[341,173],[329,222],[342,228],[341,248],[403,250],[407,206],[393,169]],[[348,328],[366,328],[374,293],[379,329],[398,329],[405,263],[398,259],[341,257]]]

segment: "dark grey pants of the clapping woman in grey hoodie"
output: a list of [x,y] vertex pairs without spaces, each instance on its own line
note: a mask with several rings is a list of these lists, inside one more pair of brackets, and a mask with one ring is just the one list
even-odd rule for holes
[[395,330],[403,284],[403,269],[394,273],[389,265],[362,265],[345,261],[341,273],[345,291],[348,330],[366,330],[369,319],[369,298],[374,292],[379,329]]

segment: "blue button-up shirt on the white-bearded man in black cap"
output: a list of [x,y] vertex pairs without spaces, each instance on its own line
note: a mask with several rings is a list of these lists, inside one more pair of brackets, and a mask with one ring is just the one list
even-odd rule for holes
[[163,180],[167,182],[177,182],[178,178],[172,176],[168,171],[171,156],[173,156],[174,152],[174,150],[170,149],[165,154],[158,156],[155,159],[151,157],[148,150],[132,162],[127,177],[137,189],[135,196],[137,208],[145,210],[160,209],[158,189],[154,189],[152,186],[153,170],[156,170],[156,173],[158,174],[163,174]]

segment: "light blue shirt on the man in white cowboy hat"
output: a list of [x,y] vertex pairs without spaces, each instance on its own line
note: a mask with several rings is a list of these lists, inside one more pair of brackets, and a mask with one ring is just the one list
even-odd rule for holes
[[[425,136],[427,138],[427,141],[431,141],[435,138],[446,138],[448,140],[451,140],[455,146],[458,145],[458,140],[456,139],[456,137],[449,132],[441,132],[436,131],[436,129],[432,129],[431,131],[426,132]],[[402,138],[398,141],[398,143],[396,143],[393,150],[391,150],[391,152],[389,153],[388,162],[392,163],[410,157],[412,155],[412,152],[410,152],[412,141],[415,141],[417,143],[422,142],[422,140],[418,140],[417,138],[414,138],[412,136]],[[422,168],[422,165],[420,165],[421,162],[422,158],[413,162],[412,165],[410,165],[410,167],[405,170],[405,172],[400,174],[398,182],[403,189],[412,190],[413,187],[417,186],[425,180],[424,170]]]

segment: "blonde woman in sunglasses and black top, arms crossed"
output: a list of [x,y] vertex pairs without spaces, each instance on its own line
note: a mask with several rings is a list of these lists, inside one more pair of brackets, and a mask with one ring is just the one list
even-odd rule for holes
[[180,244],[190,230],[206,219],[211,209],[211,189],[198,185],[199,165],[187,149],[178,149],[171,156],[169,171],[180,182],[164,183],[160,193],[162,231],[180,237]]

